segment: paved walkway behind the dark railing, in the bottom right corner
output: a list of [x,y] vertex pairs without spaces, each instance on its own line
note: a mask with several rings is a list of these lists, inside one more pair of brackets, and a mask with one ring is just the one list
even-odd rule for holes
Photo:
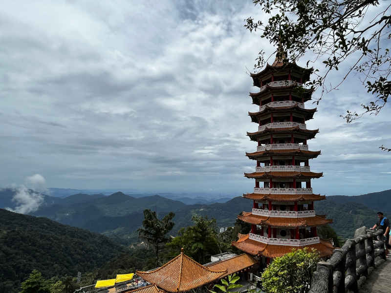
[[391,256],[369,275],[360,293],[391,293]]

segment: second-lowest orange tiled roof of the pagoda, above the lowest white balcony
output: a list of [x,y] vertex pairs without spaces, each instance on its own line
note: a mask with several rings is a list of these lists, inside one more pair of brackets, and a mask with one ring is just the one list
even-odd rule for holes
[[251,212],[242,212],[238,219],[257,225],[270,225],[274,227],[315,227],[332,223],[331,219],[325,219],[320,216],[303,217],[303,218],[283,218],[283,217],[268,217],[252,214]]

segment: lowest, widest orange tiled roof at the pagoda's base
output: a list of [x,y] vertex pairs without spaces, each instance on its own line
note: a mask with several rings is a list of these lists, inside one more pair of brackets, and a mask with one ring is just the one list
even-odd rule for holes
[[321,240],[321,243],[317,244],[310,244],[307,246],[302,247],[296,247],[296,246],[287,246],[287,245],[272,245],[272,244],[265,244],[261,243],[259,241],[249,239],[248,234],[247,235],[241,235],[242,237],[239,238],[238,241],[233,241],[232,245],[236,248],[238,248],[241,251],[245,251],[252,255],[263,255],[266,257],[279,257],[282,256],[294,249],[298,248],[314,248],[317,251],[320,252],[321,257],[326,257],[332,254],[334,248],[330,243],[327,241]]

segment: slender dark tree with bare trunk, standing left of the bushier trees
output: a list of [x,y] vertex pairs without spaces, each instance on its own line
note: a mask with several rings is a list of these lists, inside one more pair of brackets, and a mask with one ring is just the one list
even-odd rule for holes
[[162,244],[169,241],[167,233],[174,227],[174,222],[172,221],[174,216],[175,214],[170,212],[163,219],[159,220],[155,211],[144,209],[143,228],[137,231],[141,239],[153,246],[156,253],[156,267],[159,266],[159,248]]

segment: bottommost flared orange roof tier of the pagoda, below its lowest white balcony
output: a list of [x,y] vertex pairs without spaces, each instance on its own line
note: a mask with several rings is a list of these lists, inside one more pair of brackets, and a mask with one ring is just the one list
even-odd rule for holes
[[[299,242],[299,244],[296,245],[296,244],[292,244],[291,241],[283,241],[283,242],[288,242],[288,244],[265,243],[265,242],[261,242],[260,240],[252,239],[252,238],[256,238],[256,237],[250,237],[253,235],[254,234],[251,233],[247,235],[239,235],[239,240],[232,242],[232,245],[241,251],[245,251],[249,254],[256,255],[256,256],[265,256],[269,259],[282,256],[294,249],[302,248],[304,246],[308,248],[316,249],[317,251],[320,252],[321,257],[326,257],[331,255],[334,250],[333,246],[329,242],[321,240],[319,239],[319,237],[303,239],[301,243]],[[271,239],[272,239],[271,242],[275,240],[277,240],[277,242],[280,241],[280,239],[277,238],[271,238]],[[269,241],[270,238],[269,239],[266,238],[265,240]],[[290,240],[290,239],[286,239],[286,240]],[[307,243],[317,242],[317,243],[305,244],[305,242]]]

